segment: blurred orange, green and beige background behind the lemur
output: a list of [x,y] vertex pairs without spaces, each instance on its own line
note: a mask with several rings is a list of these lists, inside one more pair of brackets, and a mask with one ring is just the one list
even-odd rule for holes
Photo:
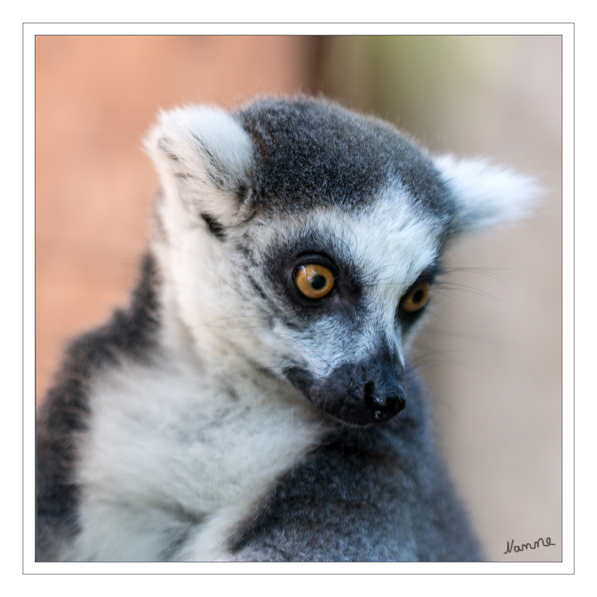
[[[38,36],[37,400],[65,342],[124,306],[157,178],[159,109],[322,93],[433,152],[539,178],[513,228],[471,237],[415,349],[438,441],[494,561],[561,558],[561,39]],[[507,553],[506,542],[556,546]]]

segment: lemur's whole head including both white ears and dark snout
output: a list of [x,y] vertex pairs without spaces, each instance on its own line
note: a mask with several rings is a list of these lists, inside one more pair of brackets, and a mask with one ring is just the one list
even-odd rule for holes
[[537,195],[308,98],[165,112],[147,147],[166,309],[188,350],[223,380],[267,372],[350,424],[405,407],[405,350],[447,245]]

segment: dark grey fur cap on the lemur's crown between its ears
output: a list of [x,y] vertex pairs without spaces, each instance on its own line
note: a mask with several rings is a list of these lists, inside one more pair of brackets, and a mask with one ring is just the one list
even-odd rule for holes
[[261,100],[235,117],[256,147],[247,193],[254,209],[288,213],[331,203],[358,210],[400,181],[424,209],[452,214],[449,190],[431,158],[387,122],[355,119],[339,105],[308,98]]

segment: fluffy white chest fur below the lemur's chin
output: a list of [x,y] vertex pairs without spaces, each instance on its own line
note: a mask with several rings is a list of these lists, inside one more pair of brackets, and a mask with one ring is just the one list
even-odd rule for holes
[[218,393],[179,368],[125,367],[91,405],[81,560],[225,558],[227,534],[322,431],[300,400]]

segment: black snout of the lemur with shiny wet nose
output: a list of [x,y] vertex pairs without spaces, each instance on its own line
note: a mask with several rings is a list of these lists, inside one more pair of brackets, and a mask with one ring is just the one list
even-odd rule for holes
[[285,373],[307,400],[346,423],[382,423],[406,407],[404,368],[387,353],[336,367],[324,379],[296,367]]

